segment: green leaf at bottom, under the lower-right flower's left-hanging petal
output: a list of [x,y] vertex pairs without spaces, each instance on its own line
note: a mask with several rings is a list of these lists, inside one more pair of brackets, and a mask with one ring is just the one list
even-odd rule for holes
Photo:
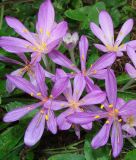
[[93,149],[91,147],[92,135],[87,135],[84,143],[84,154],[86,160],[109,160],[110,149],[108,146],[101,147],[99,149]]

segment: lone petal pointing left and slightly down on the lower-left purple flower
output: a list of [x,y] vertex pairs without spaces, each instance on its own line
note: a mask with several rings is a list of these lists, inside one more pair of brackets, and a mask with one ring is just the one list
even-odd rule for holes
[[36,109],[40,106],[40,103],[31,104],[27,106],[23,106],[17,109],[14,109],[10,112],[8,112],[4,118],[4,122],[14,122],[25,116],[27,113],[31,112],[32,110]]

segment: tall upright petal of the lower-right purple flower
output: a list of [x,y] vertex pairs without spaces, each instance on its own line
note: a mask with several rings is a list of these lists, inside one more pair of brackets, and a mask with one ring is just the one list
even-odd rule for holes
[[114,72],[110,69],[107,70],[107,77],[105,80],[105,84],[106,84],[106,93],[109,103],[115,107],[117,100],[117,83]]

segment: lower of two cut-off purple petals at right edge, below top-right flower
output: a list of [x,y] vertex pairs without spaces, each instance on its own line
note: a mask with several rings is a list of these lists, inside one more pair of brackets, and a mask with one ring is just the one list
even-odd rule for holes
[[131,78],[134,78],[134,79],[136,78],[136,69],[131,64],[126,63],[125,70],[127,71],[127,73]]

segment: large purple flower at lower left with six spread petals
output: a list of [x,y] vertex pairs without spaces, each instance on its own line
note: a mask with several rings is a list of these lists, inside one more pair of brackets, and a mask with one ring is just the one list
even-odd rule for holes
[[48,96],[44,70],[39,64],[36,65],[35,70],[37,86],[18,76],[8,75],[7,77],[17,88],[38,99],[39,102],[8,112],[3,119],[4,122],[17,121],[27,113],[41,106],[40,111],[32,119],[25,133],[24,142],[28,146],[32,146],[40,140],[45,128],[45,122],[48,130],[53,134],[57,133],[57,122],[53,110],[62,108],[59,104],[63,103],[65,105],[65,102],[55,100],[55,98],[63,92],[63,86],[67,86],[68,84],[66,78],[61,78],[54,84],[51,95]]

